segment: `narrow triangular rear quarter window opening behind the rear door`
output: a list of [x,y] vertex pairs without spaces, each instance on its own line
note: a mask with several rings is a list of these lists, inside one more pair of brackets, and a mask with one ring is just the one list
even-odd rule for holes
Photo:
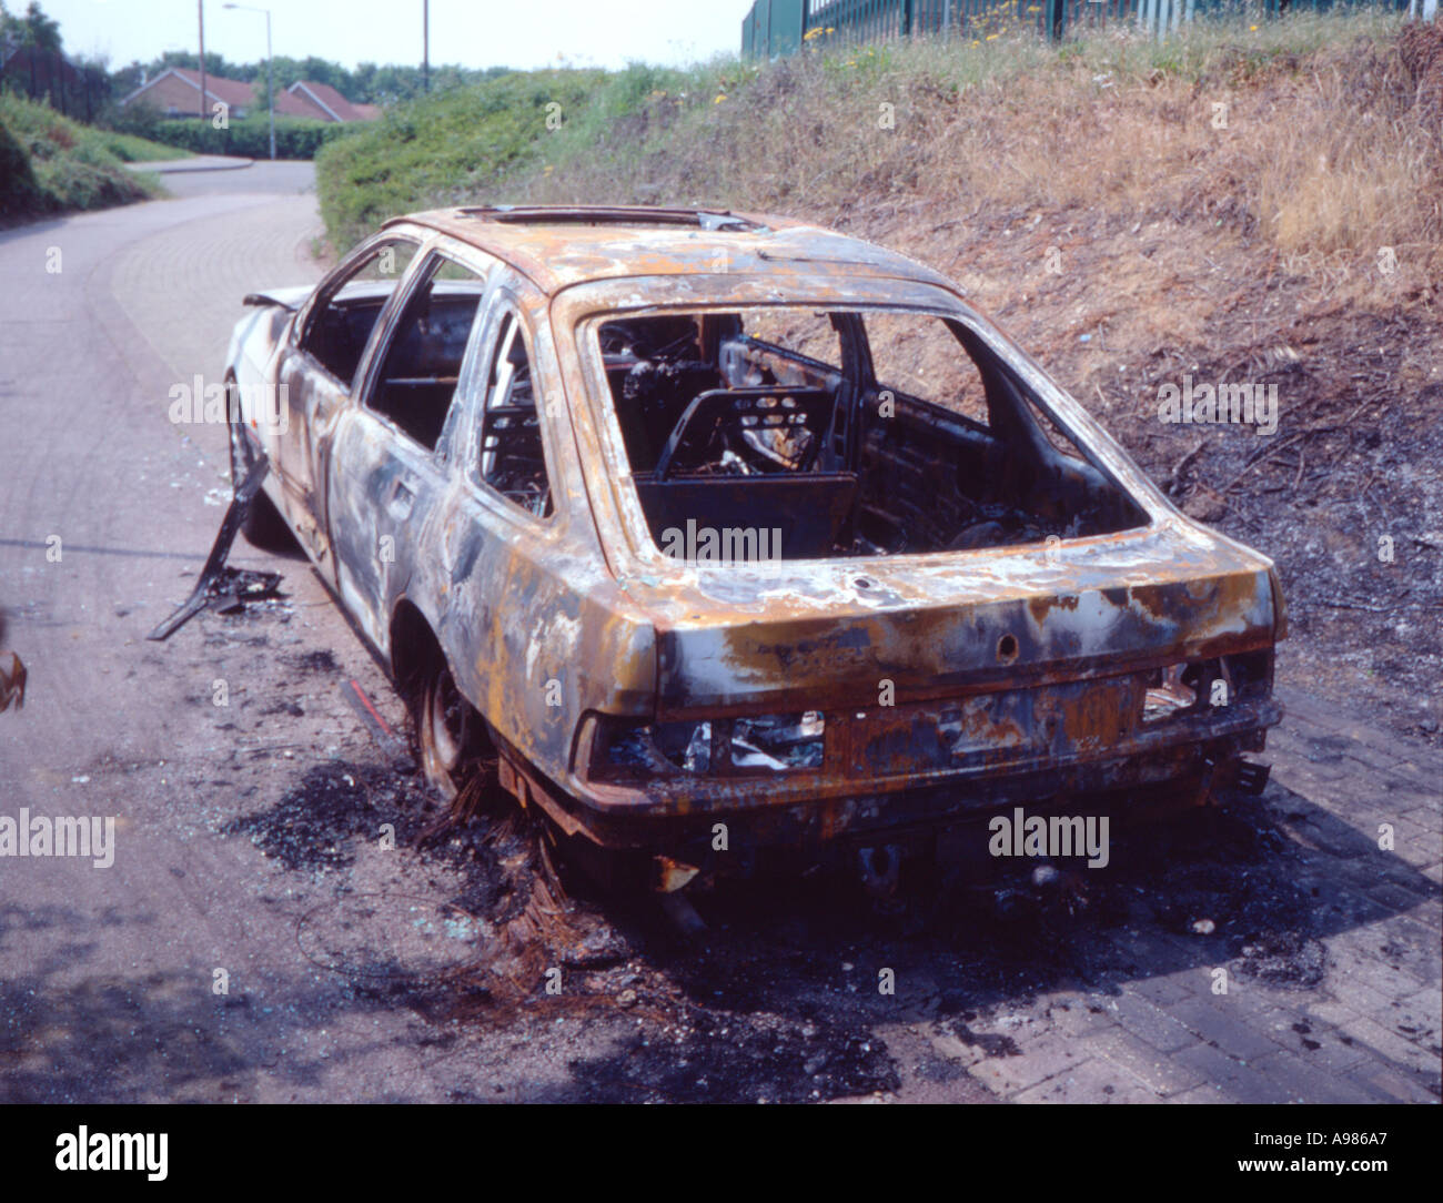
[[481,427],[481,479],[537,518],[551,516],[551,479],[521,319],[508,313],[496,336]]

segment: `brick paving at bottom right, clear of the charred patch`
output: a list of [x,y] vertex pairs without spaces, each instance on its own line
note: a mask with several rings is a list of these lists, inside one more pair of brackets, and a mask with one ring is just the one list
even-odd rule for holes
[[1320,979],[1192,956],[1169,972],[1177,936],[1121,927],[1107,939],[1137,966],[1130,979],[970,1017],[968,1041],[913,1024],[935,1057],[1012,1102],[1439,1102],[1443,756],[1302,694],[1283,701],[1260,759],[1302,852],[1296,884],[1316,899]]

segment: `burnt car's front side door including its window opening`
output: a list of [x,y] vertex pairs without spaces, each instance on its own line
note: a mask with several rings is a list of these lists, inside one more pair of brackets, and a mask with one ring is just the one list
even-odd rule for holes
[[277,363],[287,421],[273,469],[287,516],[332,583],[336,570],[326,537],[323,460],[418,248],[414,238],[385,235],[351,255],[316,290]]

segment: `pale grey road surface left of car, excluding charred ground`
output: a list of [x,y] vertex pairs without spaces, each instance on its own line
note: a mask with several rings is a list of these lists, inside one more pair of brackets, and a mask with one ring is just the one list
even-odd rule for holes
[[[228,495],[224,427],[173,426],[170,389],[219,379],[241,296],[319,277],[310,177],[169,176],[176,199],[0,235],[0,606],[30,675],[0,727],[0,811],[115,818],[108,868],[0,861],[0,1099],[456,1089],[414,1014],[358,1010],[303,946],[309,880],[222,829],[247,795],[284,795],[364,741],[342,681],[400,720],[317,581],[283,561],[287,620],[144,638],[189,591]],[[232,563],[271,561],[242,544]],[[411,887],[417,906],[437,881]]]

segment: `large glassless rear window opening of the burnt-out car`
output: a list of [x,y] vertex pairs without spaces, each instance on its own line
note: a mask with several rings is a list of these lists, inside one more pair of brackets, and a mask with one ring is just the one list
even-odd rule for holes
[[1147,521],[954,319],[762,306],[613,319],[599,338],[668,555],[935,554]]

